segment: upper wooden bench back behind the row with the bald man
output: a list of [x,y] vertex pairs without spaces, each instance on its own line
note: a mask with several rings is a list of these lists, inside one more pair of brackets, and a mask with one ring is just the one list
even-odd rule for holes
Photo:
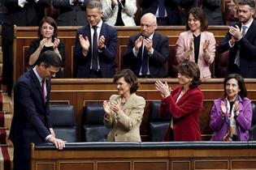
[[[66,61],[64,68],[64,78],[73,78],[74,76],[74,45],[76,38],[76,30],[79,27],[59,27],[58,35],[65,43]],[[123,60],[122,56],[127,48],[128,39],[131,35],[140,32],[140,27],[116,27],[118,30],[118,44],[117,55],[115,59],[118,70],[122,69]],[[159,26],[158,32],[163,33],[169,38],[170,54],[167,62],[167,73],[169,77],[176,77],[176,40],[178,39],[180,32],[184,32],[184,26]],[[226,32],[228,32],[228,26],[210,26],[209,32],[213,32],[217,45],[220,40],[223,39]],[[14,31],[14,80],[19,78],[21,74],[26,71],[26,53],[30,42],[37,38],[37,27],[15,27]],[[219,60],[219,54],[216,53],[215,60]],[[219,62],[218,62],[219,63]],[[219,73],[219,67],[212,65],[212,73],[215,76],[215,72]],[[216,74],[222,76],[222,74]]]

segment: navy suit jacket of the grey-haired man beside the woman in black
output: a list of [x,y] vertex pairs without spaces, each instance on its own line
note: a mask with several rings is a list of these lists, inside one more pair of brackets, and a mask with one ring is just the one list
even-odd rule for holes
[[[79,35],[88,36],[89,38],[89,52],[84,56],[82,47],[80,45]],[[112,78],[115,74],[115,56],[117,48],[117,31],[115,28],[106,23],[102,23],[100,36],[105,37],[106,48],[98,53],[99,65],[102,73],[102,78]],[[77,78],[88,78],[90,74],[91,53],[92,53],[92,39],[90,32],[90,25],[87,24],[83,28],[79,28],[76,32],[76,46],[75,46],[75,60],[77,66]]]

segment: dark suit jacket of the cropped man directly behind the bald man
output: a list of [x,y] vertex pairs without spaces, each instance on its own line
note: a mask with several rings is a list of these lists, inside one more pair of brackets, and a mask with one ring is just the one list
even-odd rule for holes
[[[178,8],[180,0],[165,0],[168,21],[171,25],[180,25],[180,10]],[[152,13],[155,15],[158,10],[158,0],[140,0],[142,15]]]

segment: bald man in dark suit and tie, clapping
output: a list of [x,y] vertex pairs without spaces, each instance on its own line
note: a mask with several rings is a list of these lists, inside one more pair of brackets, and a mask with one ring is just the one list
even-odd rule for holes
[[138,77],[167,77],[166,63],[169,56],[169,40],[154,30],[156,17],[147,13],[141,17],[141,33],[131,36],[124,53],[124,66]]

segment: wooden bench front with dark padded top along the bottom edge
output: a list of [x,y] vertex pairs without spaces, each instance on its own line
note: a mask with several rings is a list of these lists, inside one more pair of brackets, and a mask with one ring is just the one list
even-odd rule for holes
[[97,142],[32,147],[32,170],[180,170],[256,167],[255,142]]

